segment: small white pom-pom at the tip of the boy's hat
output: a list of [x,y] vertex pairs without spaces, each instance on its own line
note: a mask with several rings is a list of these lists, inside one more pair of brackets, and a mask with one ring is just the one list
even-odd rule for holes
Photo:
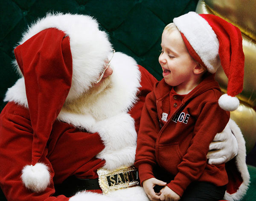
[[225,93],[218,99],[218,104],[223,110],[234,111],[239,107],[239,99]]

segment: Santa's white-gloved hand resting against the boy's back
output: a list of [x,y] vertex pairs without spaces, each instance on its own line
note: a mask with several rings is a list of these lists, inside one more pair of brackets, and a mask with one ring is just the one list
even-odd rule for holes
[[238,153],[238,144],[229,124],[217,133],[209,145],[207,159],[209,164],[221,164],[233,159]]

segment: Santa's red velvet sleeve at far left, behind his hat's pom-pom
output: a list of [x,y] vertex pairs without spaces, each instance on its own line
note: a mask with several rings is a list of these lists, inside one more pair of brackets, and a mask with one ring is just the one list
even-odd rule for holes
[[[54,171],[47,159],[47,149],[44,150],[41,161],[49,168],[49,186],[42,193],[28,190],[21,179],[21,170],[31,163],[33,130],[26,116],[15,114],[14,103],[8,103],[0,115],[0,187],[7,200],[30,201],[67,201],[64,195],[51,197],[55,190],[53,186]],[[9,111],[8,111],[9,110]]]

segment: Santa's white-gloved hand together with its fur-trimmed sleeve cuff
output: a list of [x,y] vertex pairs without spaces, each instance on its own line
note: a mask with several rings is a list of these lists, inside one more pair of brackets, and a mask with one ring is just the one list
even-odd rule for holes
[[217,133],[209,145],[209,164],[226,163],[229,177],[224,198],[240,200],[250,184],[250,174],[246,165],[246,147],[240,128],[232,119],[221,133]]

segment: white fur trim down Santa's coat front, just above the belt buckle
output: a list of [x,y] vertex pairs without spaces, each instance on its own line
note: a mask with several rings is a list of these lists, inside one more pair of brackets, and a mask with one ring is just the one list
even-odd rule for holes
[[97,155],[97,158],[106,161],[104,168],[114,170],[134,163],[137,133],[134,119],[129,114],[120,113],[96,122],[90,132],[98,132],[105,145]]

